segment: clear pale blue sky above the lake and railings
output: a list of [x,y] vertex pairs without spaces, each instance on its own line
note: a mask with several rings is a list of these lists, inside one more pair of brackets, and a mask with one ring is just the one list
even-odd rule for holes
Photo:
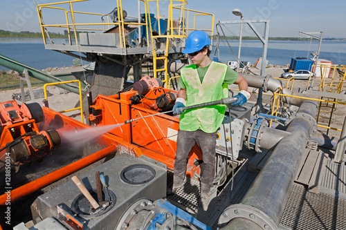
[[[36,0],[37,4],[56,3],[52,0]],[[73,10],[82,12],[95,12],[107,14],[116,7],[116,0],[91,0],[73,3]],[[160,15],[167,17],[167,3],[160,1]],[[175,1],[176,2],[176,1]],[[151,2],[149,6],[154,7]],[[66,4],[64,5],[66,6]],[[122,8],[127,15],[138,15],[137,0],[123,0]],[[211,17],[199,17],[197,28],[206,26],[215,28],[219,21],[236,21],[240,17],[233,15],[232,11],[238,8],[244,15],[244,20],[266,19],[269,22],[269,37],[306,37],[301,32],[323,32],[323,37],[346,38],[346,1],[345,0],[190,0],[190,10],[208,12],[215,15],[215,23]],[[143,7],[142,7],[143,9]],[[66,23],[62,10],[44,9],[44,22],[46,24]],[[191,18],[190,18],[191,19]],[[79,21],[78,21],[79,20]],[[76,18],[80,23],[100,22],[100,16],[89,18]],[[257,30],[264,31],[261,23]],[[257,25],[256,24],[256,25]],[[15,32],[40,32],[39,19],[34,0],[2,1],[0,8],[0,30]],[[48,31],[62,31],[49,28]],[[240,25],[231,24],[225,28],[226,35],[239,35]],[[255,36],[244,26],[243,36]],[[316,35],[320,37],[320,35]]]

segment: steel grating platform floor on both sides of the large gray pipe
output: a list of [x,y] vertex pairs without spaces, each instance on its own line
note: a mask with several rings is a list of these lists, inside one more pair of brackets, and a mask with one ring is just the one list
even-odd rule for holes
[[[255,170],[253,167],[255,155],[252,155],[251,151],[245,152],[249,157],[248,162],[235,174],[235,183],[232,185],[229,182],[217,198],[212,199],[207,212],[201,213],[198,209],[199,182],[191,178],[188,178],[176,193],[168,195],[167,200],[188,211],[212,229],[218,229],[219,215],[230,204],[239,204],[242,201],[260,172],[258,164]],[[332,162],[324,152],[321,148],[317,151],[305,151],[298,169],[299,175],[293,183],[280,220],[280,229],[346,229],[346,166]],[[270,154],[270,151],[268,153]],[[266,158],[264,154],[259,162],[263,163]],[[311,161],[315,162],[314,166],[311,166]],[[311,175],[308,176],[310,180],[306,180],[307,183],[299,180],[302,172]],[[173,173],[168,173],[168,186],[172,185],[172,178]]]

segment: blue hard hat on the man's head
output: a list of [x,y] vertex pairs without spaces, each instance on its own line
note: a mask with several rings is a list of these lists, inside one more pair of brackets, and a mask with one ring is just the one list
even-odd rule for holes
[[186,47],[183,53],[192,53],[203,49],[204,46],[210,46],[212,42],[206,32],[194,30],[186,39]]

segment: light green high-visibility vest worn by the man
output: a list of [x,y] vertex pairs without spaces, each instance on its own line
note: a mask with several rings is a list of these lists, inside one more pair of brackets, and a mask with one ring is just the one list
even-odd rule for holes
[[[181,80],[186,86],[186,106],[214,102],[228,97],[228,84],[224,84],[227,66],[212,61],[203,82],[195,65],[181,69]],[[201,129],[214,133],[221,126],[226,105],[214,105],[185,111],[180,117],[179,128],[184,131]]]

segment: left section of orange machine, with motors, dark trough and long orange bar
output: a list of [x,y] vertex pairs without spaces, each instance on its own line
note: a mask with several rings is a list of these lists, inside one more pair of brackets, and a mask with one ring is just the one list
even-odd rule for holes
[[[10,101],[1,103],[0,108],[0,169],[3,170],[0,174],[1,177],[7,175],[5,169],[6,172],[9,171],[8,165],[11,165],[12,171],[12,162],[17,159],[15,158],[16,154],[12,156],[14,152],[11,152],[11,148],[15,148],[15,153],[27,159],[21,160],[18,158],[18,165],[30,162],[30,164],[26,164],[28,167],[23,167],[17,173],[13,172],[10,175],[11,202],[15,202],[15,200],[23,198],[25,195],[60,180],[89,164],[98,162],[113,153],[125,152],[130,155],[141,155],[138,148],[122,143],[120,137],[107,133],[102,135],[96,133],[95,135],[90,126],[50,108],[41,108],[37,103],[21,104],[19,106],[17,102]],[[66,142],[66,138],[64,138],[66,133],[75,133],[78,136],[79,133],[85,133],[88,129],[91,131],[89,135],[94,136],[94,138],[81,146],[77,146],[76,143]],[[39,138],[35,139],[33,137]],[[37,145],[43,143],[44,140],[46,140],[47,146],[51,148],[46,146],[38,150]],[[60,140],[61,144],[57,146]],[[19,146],[16,146],[16,144]],[[21,152],[17,150],[24,150],[24,153],[30,153],[30,155],[21,155]],[[46,157],[42,164],[35,161],[39,156]],[[8,157],[14,160],[10,161]],[[28,177],[30,180],[27,180],[27,175],[30,175]],[[5,178],[1,180],[1,182],[5,181]],[[0,205],[8,202],[5,187],[4,184],[1,184]]]

